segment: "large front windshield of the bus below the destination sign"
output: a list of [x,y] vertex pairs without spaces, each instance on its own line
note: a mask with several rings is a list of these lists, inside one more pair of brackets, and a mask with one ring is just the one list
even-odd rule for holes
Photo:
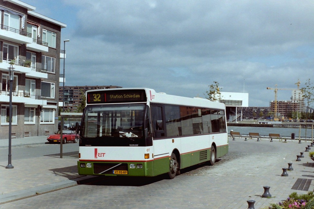
[[[145,104],[87,106],[82,138],[134,142],[143,138]],[[103,142],[102,142],[103,143]]]

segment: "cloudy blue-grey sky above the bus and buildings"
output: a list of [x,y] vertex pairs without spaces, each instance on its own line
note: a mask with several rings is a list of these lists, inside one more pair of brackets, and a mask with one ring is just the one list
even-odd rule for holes
[[67,25],[66,86],[205,98],[216,81],[248,93],[249,106],[269,106],[276,84],[278,100],[289,100],[299,80],[314,82],[312,0],[23,2]]

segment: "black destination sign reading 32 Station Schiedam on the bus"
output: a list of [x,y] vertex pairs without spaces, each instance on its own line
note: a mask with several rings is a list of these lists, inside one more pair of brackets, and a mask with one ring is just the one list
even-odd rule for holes
[[106,90],[87,93],[87,104],[146,102],[144,89]]

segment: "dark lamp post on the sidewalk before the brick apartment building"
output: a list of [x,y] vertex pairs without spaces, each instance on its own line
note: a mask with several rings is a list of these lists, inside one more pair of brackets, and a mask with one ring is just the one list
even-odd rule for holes
[[11,134],[12,134],[12,88],[13,88],[13,65],[10,64],[9,68],[9,82],[10,82],[10,106],[9,106],[9,154],[8,154],[8,165],[5,167],[6,169],[13,169],[14,166],[11,163]]

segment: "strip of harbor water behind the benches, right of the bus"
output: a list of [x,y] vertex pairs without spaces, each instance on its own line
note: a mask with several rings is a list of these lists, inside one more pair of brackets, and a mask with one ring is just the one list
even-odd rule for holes
[[[285,138],[291,138],[291,134],[295,133],[295,139],[300,137],[312,138],[312,128],[278,128],[278,127],[251,127],[251,126],[228,126],[228,133],[230,131],[240,132],[243,135],[249,135],[249,133],[259,133],[260,136],[268,136],[270,133],[280,134]],[[300,131],[300,134],[299,134]],[[305,135],[306,134],[306,135]]]

